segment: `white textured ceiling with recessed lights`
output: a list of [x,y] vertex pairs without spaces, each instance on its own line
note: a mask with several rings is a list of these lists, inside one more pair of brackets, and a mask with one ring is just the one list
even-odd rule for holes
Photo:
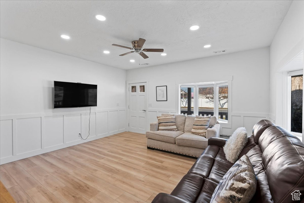
[[[292,1],[0,1],[0,36],[122,69],[269,46]],[[95,15],[106,17],[98,21]],[[196,31],[191,25],[199,25]],[[60,38],[67,34],[70,40]],[[119,56],[132,40],[163,48]],[[204,45],[212,47],[205,49]],[[103,54],[108,50],[110,54]],[[223,53],[222,53],[223,54]],[[131,63],[130,59],[135,62]]]

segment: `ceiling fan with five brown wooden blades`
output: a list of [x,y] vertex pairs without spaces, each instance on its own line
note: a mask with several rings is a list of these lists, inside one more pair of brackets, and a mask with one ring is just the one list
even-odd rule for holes
[[119,56],[124,56],[124,55],[127,55],[127,54],[131,54],[133,52],[141,55],[144,59],[146,58],[149,58],[144,52],[164,52],[164,49],[143,49],[143,44],[145,44],[145,39],[142,39],[142,38],[139,38],[139,40],[134,40],[132,41],[132,47],[125,47],[125,46],[121,46],[121,45],[118,45],[118,44],[112,44],[113,46],[116,46],[116,47],[122,47],[122,48],[126,48],[126,49],[130,49],[130,50],[133,50],[133,51],[130,51],[130,52],[127,52],[127,53],[124,53],[124,54],[120,54]]

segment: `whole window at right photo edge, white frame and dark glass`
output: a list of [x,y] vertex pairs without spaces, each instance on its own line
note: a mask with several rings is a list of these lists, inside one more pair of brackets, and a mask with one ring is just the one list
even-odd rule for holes
[[288,72],[288,130],[302,134],[303,71]]

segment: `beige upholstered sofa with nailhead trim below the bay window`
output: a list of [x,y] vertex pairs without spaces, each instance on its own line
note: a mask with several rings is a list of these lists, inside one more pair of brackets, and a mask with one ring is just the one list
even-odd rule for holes
[[[165,116],[168,114],[162,114]],[[206,138],[191,133],[195,116],[175,114],[175,123],[178,131],[158,131],[158,122],[150,123],[150,131],[146,132],[147,148],[161,149],[168,152],[199,157],[208,146],[208,138],[219,137],[219,122],[215,116],[211,117]]]

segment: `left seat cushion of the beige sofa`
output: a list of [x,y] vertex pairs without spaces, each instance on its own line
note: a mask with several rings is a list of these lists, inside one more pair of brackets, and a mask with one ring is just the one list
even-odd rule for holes
[[183,133],[182,131],[147,131],[146,137],[175,144],[175,138]]

